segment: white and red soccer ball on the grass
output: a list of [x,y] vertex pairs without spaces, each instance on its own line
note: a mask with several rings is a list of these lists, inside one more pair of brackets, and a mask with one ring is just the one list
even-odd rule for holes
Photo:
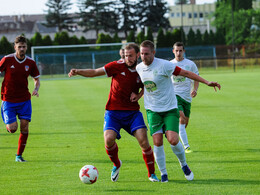
[[85,184],[93,184],[97,181],[98,170],[93,165],[85,165],[79,171],[79,178]]

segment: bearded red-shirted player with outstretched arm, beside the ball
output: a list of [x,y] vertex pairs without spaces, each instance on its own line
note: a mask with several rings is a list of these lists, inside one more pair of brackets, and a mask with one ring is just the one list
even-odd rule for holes
[[139,56],[138,45],[128,44],[125,47],[125,61],[110,62],[98,69],[71,69],[68,74],[69,77],[75,75],[112,77],[104,117],[104,141],[106,152],[114,164],[111,172],[113,182],[118,180],[119,170],[122,166],[122,162],[118,158],[116,143],[116,139],[121,138],[121,128],[137,139],[148,169],[149,180],[159,181],[155,175],[153,150],[148,141],[147,128],[137,102],[143,95],[143,84],[135,70]]

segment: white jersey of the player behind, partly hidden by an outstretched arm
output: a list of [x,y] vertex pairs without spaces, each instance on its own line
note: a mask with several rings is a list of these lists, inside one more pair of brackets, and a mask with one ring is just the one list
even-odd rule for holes
[[[171,60],[175,65],[179,66],[184,70],[188,70],[194,72],[195,74],[199,75],[198,68],[196,64],[188,59],[183,59],[182,61],[178,62],[176,59]],[[172,76],[172,82],[174,85],[175,94],[180,96],[182,99],[186,100],[187,102],[192,101],[192,97],[190,95],[193,84],[193,80],[189,79],[184,76]]]

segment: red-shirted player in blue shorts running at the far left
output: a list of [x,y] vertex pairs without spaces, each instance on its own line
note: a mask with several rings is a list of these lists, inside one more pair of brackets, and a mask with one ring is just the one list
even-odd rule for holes
[[15,161],[26,162],[23,151],[26,146],[31,121],[31,94],[28,89],[28,76],[34,80],[33,96],[39,96],[40,74],[35,61],[26,56],[27,42],[24,36],[16,37],[14,54],[9,54],[0,61],[0,72],[5,72],[1,89],[1,113],[6,129],[15,133],[18,128],[17,118],[20,119],[20,137]]

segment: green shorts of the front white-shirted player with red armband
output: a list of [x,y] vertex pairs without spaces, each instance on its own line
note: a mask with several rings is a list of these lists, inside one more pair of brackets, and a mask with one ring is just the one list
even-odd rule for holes
[[179,111],[178,109],[169,110],[167,112],[153,112],[146,110],[150,134],[153,135],[159,130],[175,131],[179,134]]

